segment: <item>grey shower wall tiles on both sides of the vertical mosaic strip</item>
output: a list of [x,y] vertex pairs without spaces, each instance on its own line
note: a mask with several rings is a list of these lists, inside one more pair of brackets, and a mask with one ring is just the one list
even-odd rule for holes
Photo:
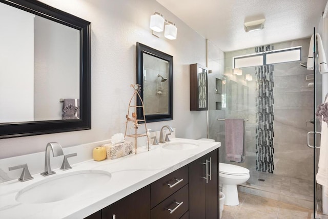
[[[274,44],[275,50],[302,46],[302,61],[274,65],[274,174],[304,180],[308,180],[309,176],[313,175],[313,151],[306,146],[306,133],[313,130],[313,125],[306,123],[313,118],[313,88],[309,88],[309,82],[305,81],[305,75],[312,72],[299,64],[307,59],[309,43],[308,38]],[[245,163],[226,163],[255,170],[255,67],[243,68],[242,76],[232,74],[232,57],[251,53],[255,53],[254,48],[228,52],[224,57],[221,55],[213,60],[210,53],[209,69],[215,67],[216,63],[220,63],[221,68],[218,68],[218,73],[210,74],[209,77],[209,107],[212,110],[209,112],[209,137],[221,142],[219,159],[220,162],[226,162],[224,122],[216,121],[216,118],[248,118],[249,121],[244,123]],[[223,71],[222,62],[224,62]],[[215,77],[222,73],[228,79],[228,108],[213,110],[215,91],[211,87],[215,83]],[[245,81],[245,74],[251,74],[253,81]],[[237,89],[234,88],[236,84]],[[235,104],[229,105],[229,102]]]

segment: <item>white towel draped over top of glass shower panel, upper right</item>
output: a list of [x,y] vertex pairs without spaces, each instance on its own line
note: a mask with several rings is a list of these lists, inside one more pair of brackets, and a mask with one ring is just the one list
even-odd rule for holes
[[[327,73],[328,72],[328,65],[326,61],[326,55],[323,49],[322,45],[322,40],[321,36],[319,33],[315,34],[316,39],[317,39],[317,45],[316,45],[316,52],[318,54],[318,61],[319,61],[319,72],[322,73]],[[308,63],[307,63],[307,68],[308,70],[313,70],[314,69],[314,57],[313,57],[313,49],[314,49],[314,36],[311,36],[310,40],[310,47],[309,47],[309,56],[308,56]]]

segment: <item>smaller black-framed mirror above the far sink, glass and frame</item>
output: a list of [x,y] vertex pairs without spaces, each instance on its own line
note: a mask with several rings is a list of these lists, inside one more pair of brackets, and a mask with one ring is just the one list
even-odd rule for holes
[[[146,122],[173,120],[173,56],[137,42],[137,84]],[[144,118],[142,108],[137,118]]]

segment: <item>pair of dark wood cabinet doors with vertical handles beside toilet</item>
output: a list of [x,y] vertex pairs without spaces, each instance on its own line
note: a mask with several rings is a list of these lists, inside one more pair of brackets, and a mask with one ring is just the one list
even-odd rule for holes
[[189,218],[218,218],[217,150],[189,165]]

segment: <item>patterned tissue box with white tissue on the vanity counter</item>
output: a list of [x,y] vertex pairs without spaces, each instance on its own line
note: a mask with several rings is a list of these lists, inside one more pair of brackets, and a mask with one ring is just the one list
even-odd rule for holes
[[106,159],[113,160],[121,156],[126,156],[132,153],[132,142],[122,142],[115,145],[109,143],[101,145],[106,148]]

